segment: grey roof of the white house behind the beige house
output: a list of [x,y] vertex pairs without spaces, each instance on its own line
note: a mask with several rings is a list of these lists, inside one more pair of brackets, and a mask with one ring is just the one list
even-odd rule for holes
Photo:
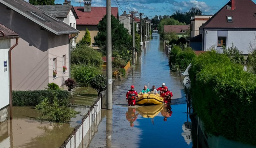
[[34,5],[34,6],[57,18],[67,18],[67,15],[71,10],[75,18],[78,19],[78,16],[75,13],[74,7],[70,5]]

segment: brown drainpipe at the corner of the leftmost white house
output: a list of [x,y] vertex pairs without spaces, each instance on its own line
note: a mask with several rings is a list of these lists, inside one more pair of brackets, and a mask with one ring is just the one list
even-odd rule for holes
[[10,119],[12,119],[12,49],[19,43],[19,36],[16,36],[16,43],[9,50],[9,79],[10,79]]

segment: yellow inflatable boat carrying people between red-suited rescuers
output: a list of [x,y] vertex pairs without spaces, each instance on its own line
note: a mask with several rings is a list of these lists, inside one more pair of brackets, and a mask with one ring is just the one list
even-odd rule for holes
[[159,94],[138,94],[138,99],[136,99],[137,104],[156,104],[160,105],[163,103],[163,98]]

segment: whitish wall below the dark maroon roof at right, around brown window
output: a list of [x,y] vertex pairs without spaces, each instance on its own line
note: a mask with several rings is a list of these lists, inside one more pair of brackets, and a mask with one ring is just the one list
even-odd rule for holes
[[247,55],[250,45],[250,41],[254,42],[256,31],[254,30],[204,30],[204,47],[203,50],[207,50],[214,45],[217,51],[222,53],[222,47],[217,47],[218,36],[227,37],[227,47],[231,47],[232,43],[243,54]]

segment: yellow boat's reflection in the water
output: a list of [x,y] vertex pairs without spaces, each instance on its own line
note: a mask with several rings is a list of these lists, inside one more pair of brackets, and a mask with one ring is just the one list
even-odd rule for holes
[[163,109],[163,105],[141,106],[136,108],[143,118],[154,118]]

